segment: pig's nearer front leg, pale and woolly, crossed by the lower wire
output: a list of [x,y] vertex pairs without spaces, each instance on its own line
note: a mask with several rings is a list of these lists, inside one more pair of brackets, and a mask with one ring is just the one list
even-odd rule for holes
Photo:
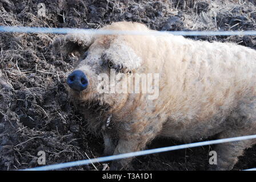
[[[121,131],[117,147],[115,147],[114,155],[124,154],[128,152],[140,151],[145,148],[146,144],[150,142],[161,130],[161,123],[151,122],[136,123],[135,127],[126,125],[126,131]],[[128,166],[132,158],[113,160],[110,170],[121,170]]]

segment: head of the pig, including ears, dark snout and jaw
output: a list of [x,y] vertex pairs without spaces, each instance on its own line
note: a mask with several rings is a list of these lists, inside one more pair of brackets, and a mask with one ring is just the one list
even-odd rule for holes
[[[138,27],[147,30],[141,24],[132,23],[114,23],[105,29],[136,30],[136,27],[137,30]],[[133,88],[129,86],[128,77],[145,71],[141,58],[143,51],[140,51],[143,45],[139,46],[138,41],[138,36],[131,35],[84,34],[70,34],[55,40],[54,44],[61,52],[77,52],[79,55],[78,63],[66,80],[76,105],[108,114],[118,113],[123,107],[127,111],[131,111],[127,107],[134,108],[134,100],[141,94],[129,92]],[[125,85],[126,90],[123,89]]]

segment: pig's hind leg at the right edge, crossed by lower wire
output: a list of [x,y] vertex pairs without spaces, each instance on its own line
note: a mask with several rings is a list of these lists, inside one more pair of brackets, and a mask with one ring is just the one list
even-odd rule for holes
[[[246,104],[247,103],[247,104]],[[233,129],[223,131],[219,138],[240,137],[244,135],[256,134],[256,99],[243,102],[234,111],[229,119],[230,123],[235,123]],[[210,169],[230,170],[238,161],[238,156],[243,155],[243,150],[256,144],[256,139],[240,140],[237,142],[217,144],[217,165],[212,164]]]

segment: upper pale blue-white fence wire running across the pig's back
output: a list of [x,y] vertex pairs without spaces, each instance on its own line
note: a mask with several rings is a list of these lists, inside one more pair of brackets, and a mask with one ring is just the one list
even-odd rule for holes
[[44,33],[44,34],[98,34],[98,35],[183,35],[183,36],[231,36],[256,35],[256,31],[119,31],[81,28],[47,28],[0,26],[0,32]]

